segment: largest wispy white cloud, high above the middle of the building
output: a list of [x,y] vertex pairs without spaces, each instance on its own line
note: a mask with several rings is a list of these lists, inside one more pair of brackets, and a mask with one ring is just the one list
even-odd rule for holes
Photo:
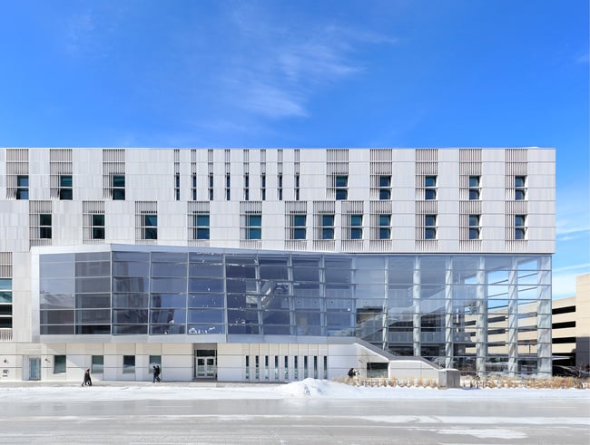
[[241,52],[224,75],[225,87],[232,103],[265,118],[308,116],[307,103],[323,86],[365,69],[361,44],[395,42],[328,23],[298,27],[251,4],[230,15]]

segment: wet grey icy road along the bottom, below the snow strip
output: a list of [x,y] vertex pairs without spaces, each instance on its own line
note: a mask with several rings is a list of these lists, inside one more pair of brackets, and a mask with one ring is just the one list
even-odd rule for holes
[[583,444],[590,399],[10,401],[0,442]]

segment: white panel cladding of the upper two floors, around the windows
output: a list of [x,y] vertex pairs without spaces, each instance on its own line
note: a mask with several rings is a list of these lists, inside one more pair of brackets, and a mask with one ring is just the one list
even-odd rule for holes
[[[0,171],[6,172],[6,151],[0,150]],[[14,150],[14,149],[12,149]],[[22,149],[21,149],[22,150]],[[7,175],[0,175],[0,251],[28,252],[30,201],[51,203],[53,236],[51,246],[83,244],[83,202],[103,201],[105,218],[104,243],[135,244],[136,202],[155,203],[158,215],[158,239],[151,244],[186,246],[191,241],[188,203],[193,201],[192,181],[196,174],[196,202],[209,207],[211,238],[207,247],[252,247],[241,235],[241,204],[246,202],[245,180],[248,177],[249,203],[261,205],[261,241],[256,248],[283,250],[290,226],[290,201],[299,201],[307,213],[307,234],[299,250],[314,249],[348,252],[390,253],[523,253],[550,254],[555,251],[555,150],[553,149],[481,149],[478,165],[481,171],[480,239],[477,243],[460,242],[460,151],[438,149],[437,169],[437,237],[435,242],[419,245],[417,233],[423,216],[417,215],[419,149],[380,149],[390,151],[391,171],[391,238],[386,247],[377,246],[375,231],[370,230],[371,149],[339,149],[346,158],[339,163],[348,176],[348,199],[329,197],[328,149],[125,149],[125,199],[104,198],[103,149],[73,149],[73,199],[59,200],[50,195],[50,150],[28,149],[28,200],[7,198]],[[432,149],[428,149],[432,150]],[[526,171],[526,242],[510,243],[506,223],[506,202],[512,198],[510,176],[506,174],[506,153],[526,152],[521,168]],[[333,151],[333,150],[332,150]],[[176,164],[175,164],[176,160]],[[180,175],[180,199],[175,197],[175,168]],[[195,169],[195,171],[192,171]],[[213,199],[209,180],[212,172]],[[280,175],[281,178],[280,179]],[[299,175],[299,179],[297,178]],[[264,179],[262,179],[264,176]],[[230,199],[226,181],[230,180]],[[262,200],[262,180],[265,197]],[[280,194],[282,180],[282,197]],[[299,199],[296,181],[299,180]],[[345,203],[358,203],[362,208],[362,241],[343,248],[342,237],[347,226]],[[314,203],[333,202],[335,208],[335,242],[333,247],[314,246],[318,220]],[[377,201],[379,202],[379,200]],[[350,212],[349,212],[350,213]],[[355,213],[358,211],[355,210]],[[379,212],[381,213],[381,212]],[[377,213],[374,214],[376,217]],[[376,217],[378,218],[378,217]],[[510,218],[508,216],[508,218]],[[193,244],[199,246],[199,244]]]

